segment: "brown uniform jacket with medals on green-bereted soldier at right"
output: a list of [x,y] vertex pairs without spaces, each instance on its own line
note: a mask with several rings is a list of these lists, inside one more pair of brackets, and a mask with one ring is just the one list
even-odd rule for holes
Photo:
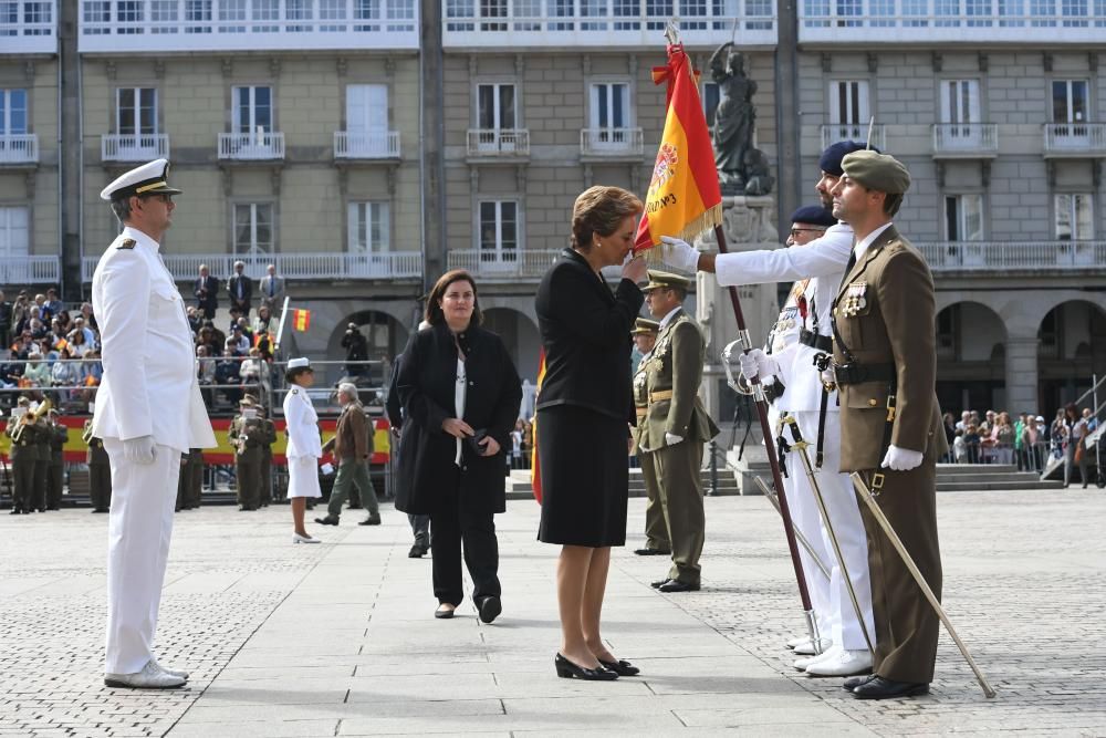
[[[864,306],[846,310],[847,295]],[[921,253],[888,227],[845,276],[834,303],[841,341],[834,360],[846,363],[844,342],[860,365],[894,364],[898,377],[890,443],[932,461],[948,451],[937,403],[933,278]],[[875,469],[883,461],[887,422],[885,381],[841,387],[841,470]]]

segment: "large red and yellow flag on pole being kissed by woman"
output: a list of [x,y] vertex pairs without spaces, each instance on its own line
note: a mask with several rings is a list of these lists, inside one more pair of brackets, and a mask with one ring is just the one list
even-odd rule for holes
[[668,65],[653,70],[653,81],[668,85],[668,114],[634,243],[637,254],[660,243],[661,236],[691,241],[722,222],[722,193],[697,76],[682,44],[669,45]]

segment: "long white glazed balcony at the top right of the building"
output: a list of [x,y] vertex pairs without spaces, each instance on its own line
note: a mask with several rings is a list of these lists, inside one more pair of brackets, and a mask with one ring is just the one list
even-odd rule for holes
[[[1051,29],[1051,30],[1050,30]],[[800,44],[1102,41],[1106,18],[1066,0],[851,0],[799,4]]]

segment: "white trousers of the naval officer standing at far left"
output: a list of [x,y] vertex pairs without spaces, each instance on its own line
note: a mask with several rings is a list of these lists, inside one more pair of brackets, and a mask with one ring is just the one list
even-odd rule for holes
[[153,464],[135,464],[116,438],[105,438],[104,450],[112,466],[105,671],[134,674],[154,657],[180,451],[158,445]]

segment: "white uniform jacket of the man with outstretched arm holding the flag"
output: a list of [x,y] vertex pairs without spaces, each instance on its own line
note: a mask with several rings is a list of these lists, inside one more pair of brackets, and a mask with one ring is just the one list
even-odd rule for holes
[[[804,291],[810,306],[806,318],[802,319],[797,311],[794,318],[799,328],[832,336],[831,309],[852,251],[853,229],[846,224],[837,224],[822,238],[805,246],[719,254],[714,271],[722,287],[810,279]],[[793,300],[789,300],[787,306],[792,305]],[[787,312],[785,308],[781,320]],[[775,402],[780,409],[817,412],[822,406],[822,378],[814,366],[814,356],[818,353],[822,352],[797,340],[783,351],[773,349],[772,357],[780,363],[780,380],[785,387],[783,396]],[[836,391],[828,397],[826,409],[838,412]]]

